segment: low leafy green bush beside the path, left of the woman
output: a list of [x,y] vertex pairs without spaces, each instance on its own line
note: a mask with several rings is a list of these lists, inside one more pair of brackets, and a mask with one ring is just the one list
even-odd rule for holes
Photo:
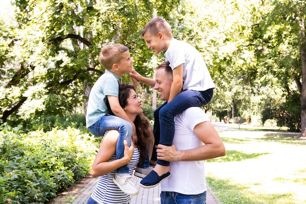
[[0,131],[0,203],[44,203],[85,177],[93,161],[94,139],[79,130],[53,129],[22,134]]

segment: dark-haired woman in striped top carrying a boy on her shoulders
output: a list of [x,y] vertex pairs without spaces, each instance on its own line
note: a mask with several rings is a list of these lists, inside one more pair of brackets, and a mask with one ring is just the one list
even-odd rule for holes
[[[92,177],[99,177],[99,181],[89,197],[87,204],[129,204],[131,196],[125,194],[113,182],[116,169],[128,164],[129,174],[132,176],[133,169],[137,164],[141,165],[147,156],[147,147],[149,145],[149,158],[153,149],[153,130],[147,118],[142,115],[142,100],[136,95],[133,86],[122,84],[119,86],[119,103],[127,115],[134,122],[137,133],[137,143],[131,143],[128,147],[124,142],[124,157],[116,159],[116,143],[119,136],[118,131],[108,131],[103,137],[101,147],[93,161],[91,167]],[[132,182],[134,177],[125,179],[126,185]]]

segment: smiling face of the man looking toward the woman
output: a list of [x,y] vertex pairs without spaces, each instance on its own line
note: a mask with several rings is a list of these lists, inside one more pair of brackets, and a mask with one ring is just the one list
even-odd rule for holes
[[155,86],[160,95],[160,99],[168,101],[170,96],[170,89],[172,85],[172,75],[167,73],[164,68],[159,68],[155,72]]

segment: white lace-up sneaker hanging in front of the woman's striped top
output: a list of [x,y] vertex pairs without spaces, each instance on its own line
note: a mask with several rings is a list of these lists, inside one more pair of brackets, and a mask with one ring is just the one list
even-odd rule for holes
[[138,195],[138,189],[133,183],[135,177],[132,177],[130,174],[126,174],[123,177],[118,176],[115,173],[115,176],[112,178],[112,181],[118,185],[118,187],[126,194],[135,196]]

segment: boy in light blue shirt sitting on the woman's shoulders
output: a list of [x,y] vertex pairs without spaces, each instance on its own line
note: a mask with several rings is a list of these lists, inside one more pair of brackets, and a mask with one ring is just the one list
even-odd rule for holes
[[[135,125],[119,104],[121,76],[132,71],[129,48],[124,45],[107,45],[101,49],[100,61],[105,73],[93,85],[87,106],[86,127],[94,136],[104,136],[108,130],[118,130],[116,157],[124,156],[124,140],[131,146],[137,139]],[[131,182],[127,165],[117,169],[112,179],[126,194],[137,195],[138,189]]]

